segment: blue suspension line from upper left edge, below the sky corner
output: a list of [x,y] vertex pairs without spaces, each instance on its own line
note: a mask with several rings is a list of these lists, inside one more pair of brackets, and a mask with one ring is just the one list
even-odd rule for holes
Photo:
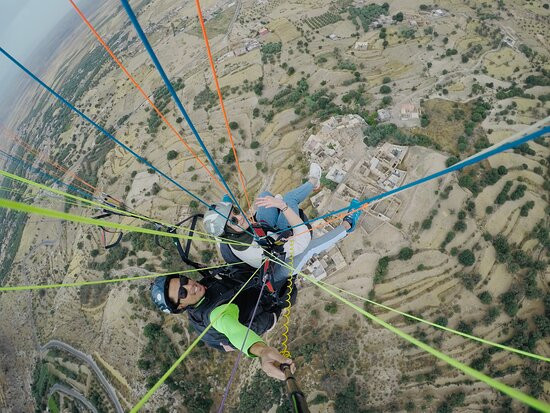
[[[94,126],[96,129],[98,129],[100,132],[104,133],[105,136],[107,136],[109,139],[114,141],[116,144],[124,148],[126,151],[130,152],[136,159],[138,159],[143,164],[147,165],[149,168],[156,171],[159,175],[161,175],[163,178],[167,179],[168,181],[172,182],[174,185],[176,185],[179,189],[187,193],[189,196],[195,198],[198,202],[205,205],[207,208],[210,208],[210,204],[203,201],[201,198],[193,194],[191,191],[189,191],[187,188],[176,182],[174,179],[170,178],[168,175],[166,175],[161,170],[157,169],[153,164],[151,164],[147,159],[144,157],[138,155],[136,152],[134,152],[132,149],[130,149],[128,146],[126,146],[124,143],[119,141],[117,138],[115,138],[113,135],[111,135],[109,132],[107,132],[103,127],[99,126],[96,122],[94,122],[92,119],[90,119],[88,116],[86,116],[83,112],[78,110],[74,105],[72,105],[70,102],[68,102],[63,96],[61,96],[59,93],[57,93],[55,90],[53,90],[51,87],[49,87],[47,84],[45,84],[41,79],[39,79],[34,73],[32,73],[29,69],[27,69],[25,66],[23,66],[22,63],[20,63],[17,59],[15,59],[12,55],[10,55],[6,50],[4,50],[3,47],[0,47],[0,52],[4,56],[6,56],[9,60],[11,60],[15,65],[17,65],[21,70],[23,70],[27,75],[29,75],[34,81],[36,81],[40,86],[42,86],[44,89],[46,89],[48,92],[50,92],[52,95],[54,95],[57,99],[59,99],[61,102],[63,102],[69,109],[71,109],[73,112],[78,114],[81,118],[86,120],[88,123],[90,123],[92,126]],[[223,216],[226,219],[229,219],[229,217],[226,217],[223,214],[220,214],[217,210],[216,212]]]

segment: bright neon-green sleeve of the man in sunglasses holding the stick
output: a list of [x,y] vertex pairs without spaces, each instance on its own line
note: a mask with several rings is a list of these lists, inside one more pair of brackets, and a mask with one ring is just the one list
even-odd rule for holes
[[[218,318],[220,314],[222,316]],[[249,357],[255,357],[249,353],[249,349],[256,343],[263,343],[263,340],[258,334],[250,330],[246,342],[244,341],[247,327],[239,322],[239,307],[236,304],[222,304],[214,308],[210,313],[210,322],[217,331],[229,339],[235,348],[240,349],[243,347],[245,354]],[[245,343],[244,346],[243,342]]]

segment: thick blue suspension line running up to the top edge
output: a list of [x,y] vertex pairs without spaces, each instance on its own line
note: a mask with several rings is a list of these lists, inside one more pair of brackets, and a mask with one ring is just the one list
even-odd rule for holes
[[[229,194],[229,196],[233,200],[233,203],[239,208],[239,210],[243,214],[244,218],[246,219],[246,222],[248,223],[248,225],[251,225],[250,221],[248,221],[248,218],[247,218],[245,212],[243,211],[243,209],[241,208],[239,202],[237,201],[237,198],[235,198],[235,195],[233,195],[233,192],[231,192],[231,189],[229,189],[229,186],[227,185],[227,182],[225,181],[225,179],[224,179],[223,175],[221,174],[220,170],[218,169],[218,166],[216,165],[216,162],[214,161],[214,159],[210,155],[210,152],[208,152],[208,149],[206,148],[206,146],[205,146],[203,140],[201,139],[201,137],[199,136],[199,133],[197,132],[197,129],[195,129],[195,125],[193,125],[193,122],[191,121],[191,118],[189,118],[189,115],[187,114],[185,108],[183,107],[183,104],[181,103],[181,100],[179,99],[176,91],[172,87],[172,83],[170,83],[170,79],[168,79],[168,76],[166,76],[166,73],[164,72],[164,69],[162,68],[162,65],[160,64],[160,61],[158,60],[153,48],[151,47],[151,44],[149,43],[149,40],[147,40],[147,36],[143,32],[143,30],[142,30],[142,28],[141,28],[141,26],[140,26],[140,24],[137,20],[137,17],[134,14],[134,11],[132,10],[132,8],[130,7],[130,4],[128,3],[128,0],[120,0],[120,2],[122,3],[122,6],[126,10],[126,13],[128,14],[128,17],[130,18],[130,21],[134,25],[134,28],[136,29],[136,32],[138,33],[141,41],[145,45],[145,49],[147,49],[147,52],[149,53],[149,56],[151,57],[151,60],[155,64],[160,76],[162,77],[162,80],[164,81],[164,84],[166,85],[166,88],[168,89],[168,91],[172,95],[172,98],[176,102],[176,105],[178,106],[180,112],[182,113],[183,117],[185,118],[187,124],[189,125],[189,128],[191,129],[191,131],[195,135],[195,138],[199,142],[199,145],[201,146],[202,150],[204,151],[204,154],[208,158],[208,161],[210,162],[210,164],[214,168],[214,171],[216,172],[216,174],[220,177],[223,185],[225,186],[225,189],[227,189],[227,193]],[[254,237],[256,238],[255,234],[254,234]]]

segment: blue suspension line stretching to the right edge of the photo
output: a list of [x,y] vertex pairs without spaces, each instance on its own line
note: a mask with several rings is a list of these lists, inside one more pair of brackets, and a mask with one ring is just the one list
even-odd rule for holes
[[[465,168],[467,166],[473,165],[475,163],[481,162],[482,160],[487,159],[487,158],[489,158],[493,155],[496,155],[498,153],[504,152],[505,150],[516,148],[516,147],[518,147],[518,146],[520,146],[520,145],[522,145],[526,142],[537,139],[537,138],[541,137],[542,135],[546,135],[548,133],[550,133],[550,126],[545,126],[544,128],[539,129],[536,132],[530,133],[529,135],[526,135],[526,136],[524,136],[522,138],[519,138],[519,139],[516,139],[514,141],[504,143],[504,144],[502,144],[502,145],[500,145],[500,146],[498,146],[494,149],[491,149],[489,151],[480,153],[480,154],[478,154],[474,157],[471,157],[469,159],[465,159],[464,161],[458,162],[458,163],[456,163],[456,164],[454,164],[454,165],[452,165],[448,168],[445,168],[445,169],[443,169],[439,172],[435,172],[431,175],[425,176],[424,178],[420,178],[420,179],[417,179],[416,181],[409,182],[408,184],[402,185],[402,186],[397,187],[395,189],[392,189],[391,191],[382,192],[381,194],[378,194],[378,195],[373,196],[371,198],[367,198],[364,201],[361,201],[359,206],[363,206],[365,204],[370,204],[371,202],[374,202],[374,201],[379,201],[383,198],[387,198],[387,197],[389,197],[393,194],[396,194],[398,192],[405,191],[406,189],[409,189],[409,188],[412,188],[414,186],[417,186],[417,185],[423,184],[425,182],[428,182],[428,181],[434,180],[436,178],[439,178],[440,176],[447,175],[447,174],[449,174],[451,172],[454,172],[454,171],[458,171],[459,169],[462,169],[462,168]],[[347,212],[347,211],[348,211],[348,207],[341,208],[341,209],[338,209],[336,211],[328,212],[328,213],[326,213],[324,215],[321,215],[317,218],[313,218],[313,219],[310,219],[308,221],[305,221],[304,224],[307,224],[307,223],[310,223],[310,222],[315,222],[315,221],[318,221],[320,219],[328,218],[332,215],[338,215],[338,214],[341,214],[341,213]],[[300,225],[303,225],[303,224],[300,224]],[[300,225],[295,225],[293,227],[285,228],[284,230],[279,230],[277,232],[282,232],[282,231],[286,231],[288,229],[296,228]]]

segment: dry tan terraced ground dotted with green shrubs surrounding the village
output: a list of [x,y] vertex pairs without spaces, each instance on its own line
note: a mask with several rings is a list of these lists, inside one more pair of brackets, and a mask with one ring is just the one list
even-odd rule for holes
[[[383,9],[382,2],[374,3]],[[365,143],[369,150],[380,143],[374,136],[380,136],[384,123],[376,125],[376,111],[387,108],[392,116],[388,122],[402,134],[383,139],[423,145],[411,146],[400,165],[408,172],[407,182],[444,168],[453,157],[464,159],[520,134],[535,122],[548,125],[550,12],[544,2],[446,0],[438,3],[445,15],[436,17],[435,6],[421,1],[391,1],[390,19],[398,12],[404,19],[393,20],[385,30],[365,30],[361,18],[350,18],[350,7],[367,4],[201,4],[203,13],[212,16],[207,30],[252,197],[265,188],[284,193],[301,183],[309,163],[303,144],[330,116],[358,114],[365,120],[365,141],[345,148],[353,156],[363,153]],[[244,204],[194,3],[155,0],[132,5],[166,72],[180,84],[178,96],[206,146]],[[327,13],[339,18],[330,20],[334,16]],[[200,153],[120,7],[104,3],[88,17]],[[259,36],[263,27],[269,33]],[[513,47],[502,42],[505,36],[513,37]],[[263,46],[221,59],[250,39]],[[368,48],[356,49],[357,41],[368,42]],[[61,46],[40,73],[48,84],[207,202],[222,196],[83,25]],[[65,182],[89,189],[73,180],[76,173],[130,208],[167,222],[203,210],[45,92],[24,85],[4,125],[9,132],[2,130],[2,149],[23,156],[24,148],[11,138],[16,135],[69,172],[48,168],[32,155],[26,155],[26,163],[7,162],[10,171],[54,185],[31,169],[46,168]],[[408,103],[418,109],[417,119],[402,119],[402,106]],[[171,151],[174,156],[167,156]],[[537,140],[398,195],[402,204],[390,221],[372,232],[363,223],[342,242],[347,266],[324,281],[463,332],[550,356],[549,156],[548,138]],[[201,159],[206,162],[204,156]],[[7,179],[2,186],[6,185],[11,185]],[[93,215],[22,184],[11,189],[25,191],[20,200]],[[314,211],[308,201],[304,207],[310,214],[328,212]],[[147,236],[125,234],[120,246],[105,250],[97,228],[0,212],[3,285],[68,283],[182,268],[173,251],[165,252]],[[111,219],[142,225],[128,217]],[[107,243],[115,237],[104,235]],[[472,254],[473,262],[461,259],[464,251]],[[192,254],[205,262],[221,262],[211,245],[196,243]],[[66,392],[48,398],[57,383],[81,393],[98,411],[115,411],[88,364],[64,350],[41,351],[50,340],[60,340],[93,359],[128,411],[196,336],[185,317],[167,317],[152,308],[148,285],[149,280],[140,280],[1,293],[1,312],[9,316],[0,318],[0,408],[40,411],[49,399],[67,409],[87,411]],[[544,362],[489,352],[489,347],[411,324],[373,305],[364,308],[491,377],[550,402],[550,373]],[[291,319],[290,350],[312,411],[528,411],[410,347],[305,281]],[[267,342],[279,347],[281,332],[279,323]],[[197,348],[145,411],[214,410],[234,359],[235,354]],[[243,360],[228,411],[286,411],[280,386],[258,370],[257,361]]]

